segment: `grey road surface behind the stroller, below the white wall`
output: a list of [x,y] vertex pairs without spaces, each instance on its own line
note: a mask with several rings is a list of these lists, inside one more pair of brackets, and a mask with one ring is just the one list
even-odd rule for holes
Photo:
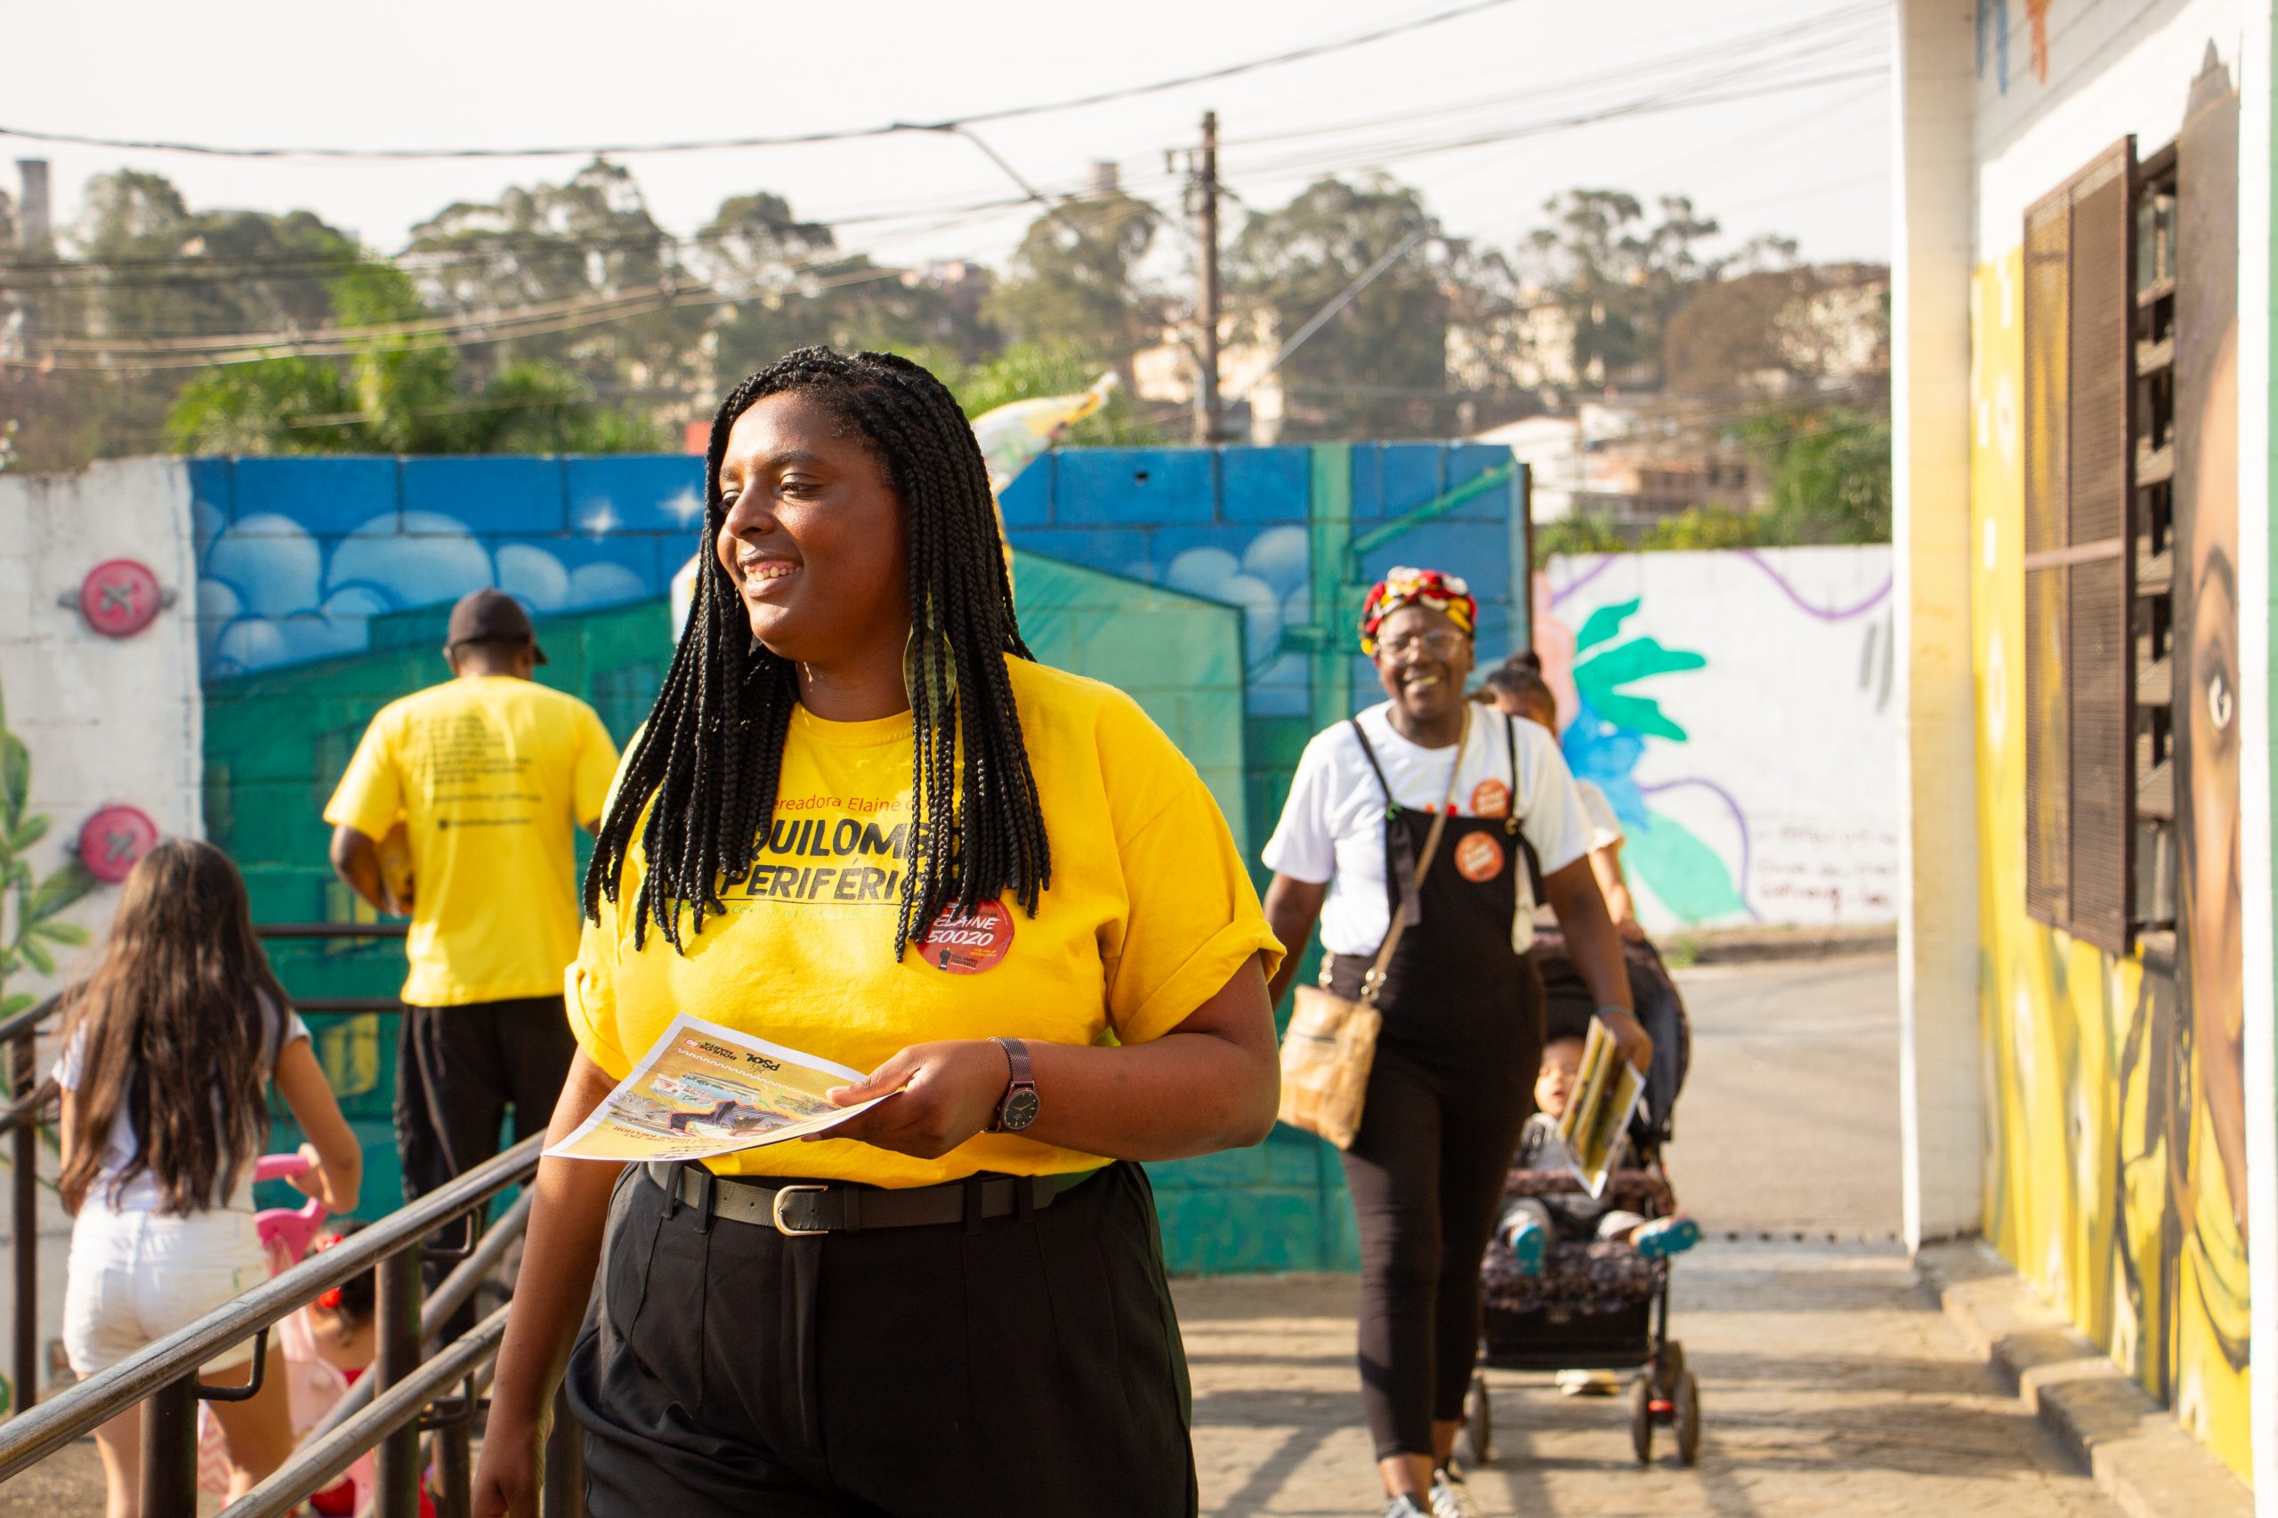
[[1693,1076],[1670,1172],[1708,1231],[1895,1240],[1898,960],[1677,971]]

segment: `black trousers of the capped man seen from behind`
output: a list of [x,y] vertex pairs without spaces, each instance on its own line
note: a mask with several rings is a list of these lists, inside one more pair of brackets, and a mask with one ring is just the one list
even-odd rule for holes
[[544,1133],[574,1055],[560,996],[403,1007],[396,1039],[403,1197],[424,1197],[499,1153],[506,1108],[515,1110],[515,1142]]

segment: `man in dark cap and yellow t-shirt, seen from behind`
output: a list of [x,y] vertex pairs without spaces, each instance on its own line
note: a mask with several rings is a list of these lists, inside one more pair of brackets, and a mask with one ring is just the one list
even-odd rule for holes
[[[453,679],[380,709],[323,809],[339,878],[412,919],[396,1058],[405,1197],[494,1156],[508,1105],[517,1140],[542,1133],[576,1051],[563,1012],[574,827],[599,821],[617,748],[592,707],[531,679],[544,659],[515,597],[460,599]],[[383,859],[399,827],[408,880]]]

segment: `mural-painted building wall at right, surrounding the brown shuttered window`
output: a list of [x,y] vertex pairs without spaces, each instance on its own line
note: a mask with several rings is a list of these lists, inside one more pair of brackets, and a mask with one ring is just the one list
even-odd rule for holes
[[[2016,9],[2025,7],[1991,7]],[[1982,55],[1980,264],[1970,289],[1970,540],[1977,688],[1980,1012],[1986,1238],[2242,1477],[2248,1258],[2235,741],[2237,349],[2228,289],[2178,333],[2178,741],[2187,830],[2173,953],[2114,957],[2025,914],[2023,210],[2123,132],[2139,155],[2228,109],[2239,7],[2034,5],[2030,73]],[[1989,11],[1980,5],[1980,18]],[[2041,16],[2046,11],[2046,16]],[[1998,32],[1982,32],[1996,36]],[[1986,62],[1991,57],[1991,62]],[[2210,91],[2203,73],[2226,75]],[[2260,68],[2262,59],[2246,64]],[[2226,105],[2228,100],[2228,105]],[[2232,139],[2235,144],[2235,132]],[[2189,150],[2189,148],[2187,148]],[[2207,146],[2198,162],[2207,162]],[[2235,146],[2232,146],[2235,150]],[[2205,194],[2201,205],[2205,205]],[[2191,235],[2185,210],[2185,237]],[[2226,230],[2228,219],[2228,230]],[[2235,262],[2235,210],[2201,226]],[[2178,406],[2185,410],[2185,406]],[[2269,1010],[2260,1010],[2269,1017]],[[2269,1115],[2262,1117],[2269,1121]]]

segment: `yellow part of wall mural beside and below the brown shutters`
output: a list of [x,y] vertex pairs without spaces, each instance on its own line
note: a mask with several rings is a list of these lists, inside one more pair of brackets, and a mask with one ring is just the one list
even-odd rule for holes
[[2025,916],[2021,251],[1970,287],[1984,1233],[2244,1479],[2246,1244],[2187,1010]]

